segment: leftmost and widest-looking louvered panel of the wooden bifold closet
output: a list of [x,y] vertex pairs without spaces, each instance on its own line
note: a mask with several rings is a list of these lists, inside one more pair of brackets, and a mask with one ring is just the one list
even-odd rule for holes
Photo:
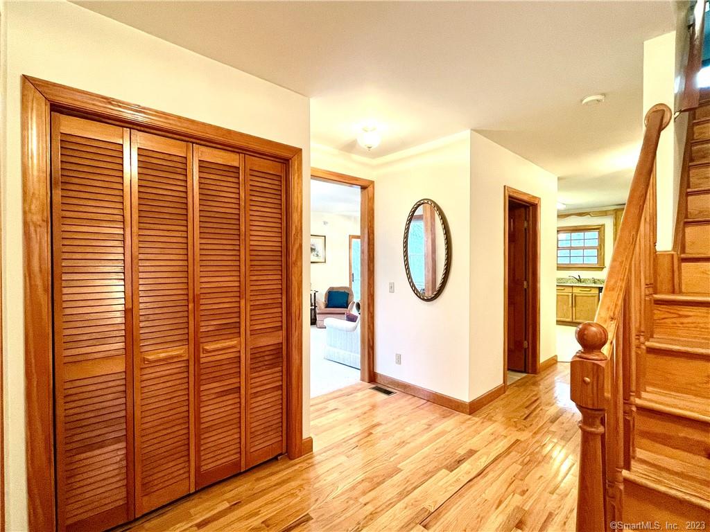
[[133,518],[129,161],[128,130],[52,115],[60,530]]

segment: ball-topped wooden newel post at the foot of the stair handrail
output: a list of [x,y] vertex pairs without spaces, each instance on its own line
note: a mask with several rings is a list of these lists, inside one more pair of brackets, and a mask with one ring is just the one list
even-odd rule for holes
[[572,358],[570,389],[572,401],[581,412],[579,453],[579,489],[577,490],[577,532],[604,532],[604,475],[601,420],[605,414],[604,372],[607,358],[601,350],[606,345],[606,329],[588,321],[577,327],[581,349]]

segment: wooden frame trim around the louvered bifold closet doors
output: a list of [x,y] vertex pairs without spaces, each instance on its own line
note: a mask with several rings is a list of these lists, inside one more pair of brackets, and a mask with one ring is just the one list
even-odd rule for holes
[[34,77],[22,77],[23,288],[28,523],[56,530],[50,112],[164,135],[284,162],[286,176],[286,450],[310,452],[303,439],[302,150]]

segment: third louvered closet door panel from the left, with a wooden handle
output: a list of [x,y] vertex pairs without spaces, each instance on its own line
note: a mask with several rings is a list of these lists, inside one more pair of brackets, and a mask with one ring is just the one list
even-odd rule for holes
[[197,487],[244,469],[241,156],[195,146]]

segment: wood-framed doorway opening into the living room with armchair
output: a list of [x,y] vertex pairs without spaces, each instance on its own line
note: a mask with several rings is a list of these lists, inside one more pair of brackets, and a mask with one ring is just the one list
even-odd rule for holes
[[311,169],[311,397],[373,381],[374,183]]

